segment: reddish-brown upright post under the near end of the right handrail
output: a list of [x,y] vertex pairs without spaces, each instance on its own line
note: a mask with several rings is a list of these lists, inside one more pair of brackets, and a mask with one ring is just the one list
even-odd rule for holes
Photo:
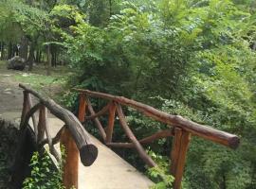
[[186,162],[186,154],[191,140],[191,133],[183,129],[174,129],[174,143],[171,153],[171,173],[174,176],[174,189],[180,189]]

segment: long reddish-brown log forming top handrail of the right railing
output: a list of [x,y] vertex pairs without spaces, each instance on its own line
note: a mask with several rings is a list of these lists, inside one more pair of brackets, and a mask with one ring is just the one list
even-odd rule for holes
[[209,126],[197,124],[195,122],[192,122],[191,120],[183,118],[180,115],[172,115],[167,112],[161,112],[151,106],[142,104],[140,102],[128,99],[123,96],[103,94],[99,92],[92,92],[89,90],[81,90],[81,89],[74,89],[74,90],[89,96],[112,100],[112,101],[118,102],[121,105],[134,108],[138,112],[142,112],[143,114],[155,119],[156,121],[160,121],[170,126],[184,129],[186,131],[191,132],[193,135],[200,136],[204,139],[213,141],[215,143],[218,143],[224,146],[229,146],[234,149],[237,146],[239,146],[239,138],[236,135],[229,134],[228,132],[221,131],[218,129],[213,129],[213,128],[210,128]]

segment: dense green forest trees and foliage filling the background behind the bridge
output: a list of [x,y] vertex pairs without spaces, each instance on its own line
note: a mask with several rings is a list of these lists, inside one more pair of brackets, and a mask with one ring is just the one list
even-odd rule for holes
[[[47,75],[68,66],[67,88],[124,95],[241,137],[235,151],[193,137],[184,188],[256,188],[255,50],[254,0],[0,0],[1,60],[19,55]],[[76,94],[62,100],[71,108]],[[166,127],[129,114],[137,136]],[[170,143],[148,147],[163,169]],[[120,154],[146,171],[133,152]]]

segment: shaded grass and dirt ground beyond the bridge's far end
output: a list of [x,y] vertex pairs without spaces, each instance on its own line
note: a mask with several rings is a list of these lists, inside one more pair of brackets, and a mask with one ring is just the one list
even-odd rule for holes
[[53,68],[51,76],[46,76],[44,64],[34,66],[32,72],[21,72],[8,70],[6,61],[0,61],[0,118],[4,112],[21,111],[23,92],[18,87],[19,83],[30,85],[33,89],[53,97],[62,92],[68,76],[65,67]]

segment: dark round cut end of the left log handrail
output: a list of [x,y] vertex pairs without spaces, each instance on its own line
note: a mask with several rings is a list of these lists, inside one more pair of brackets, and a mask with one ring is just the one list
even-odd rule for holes
[[90,166],[98,157],[98,148],[94,145],[82,146],[80,149],[80,158],[84,166]]

